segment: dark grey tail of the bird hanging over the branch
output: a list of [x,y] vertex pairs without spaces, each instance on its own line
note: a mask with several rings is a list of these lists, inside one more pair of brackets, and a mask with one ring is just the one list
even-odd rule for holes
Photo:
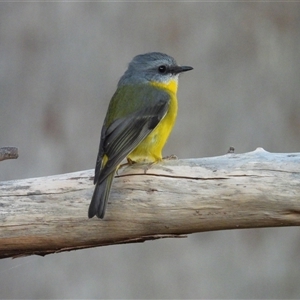
[[114,176],[115,172],[112,172],[100,184],[96,183],[92,201],[89,207],[89,218],[92,218],[95,215],[100,219],[104,218],[105,209]]

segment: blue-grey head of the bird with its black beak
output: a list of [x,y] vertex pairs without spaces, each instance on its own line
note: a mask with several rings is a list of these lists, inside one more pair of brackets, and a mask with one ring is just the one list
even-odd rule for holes
[[160,52],[150,52],[135,56],[121,77],[118,86],[155,82],[169,82],[178,79],[179,73],[192,70],[192,67],[178,66],[175,59]]

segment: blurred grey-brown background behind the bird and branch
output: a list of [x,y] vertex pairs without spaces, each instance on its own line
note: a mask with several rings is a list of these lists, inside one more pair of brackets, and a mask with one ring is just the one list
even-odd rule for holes
[[[0,147],[19,148],[0,180],[94,168],[149,51],[194,67],[164,155],[300,152],[299,32],[292,2],[0,3]],[[0,298],[299,298],[299,278],[299,228],[231,230],[0,260]]]

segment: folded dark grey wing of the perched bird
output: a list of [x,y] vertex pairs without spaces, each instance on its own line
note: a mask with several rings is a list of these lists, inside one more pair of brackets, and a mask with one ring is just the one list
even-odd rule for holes
[[[115,120],[108,128],[102,128],[94,183],[103,181],[152,132],[166,115],[169,103],[169,96],[165,94],[155,104]],[[108,161],[102,166],[104,155]]]

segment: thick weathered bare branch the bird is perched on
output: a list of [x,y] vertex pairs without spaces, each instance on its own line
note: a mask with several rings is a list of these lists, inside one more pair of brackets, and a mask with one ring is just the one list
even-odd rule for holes
[[193,232],[300,225],[300,153],[164,161],[124,167],[104,220],[88,219],[93,171],[0,183],[0,257]]

